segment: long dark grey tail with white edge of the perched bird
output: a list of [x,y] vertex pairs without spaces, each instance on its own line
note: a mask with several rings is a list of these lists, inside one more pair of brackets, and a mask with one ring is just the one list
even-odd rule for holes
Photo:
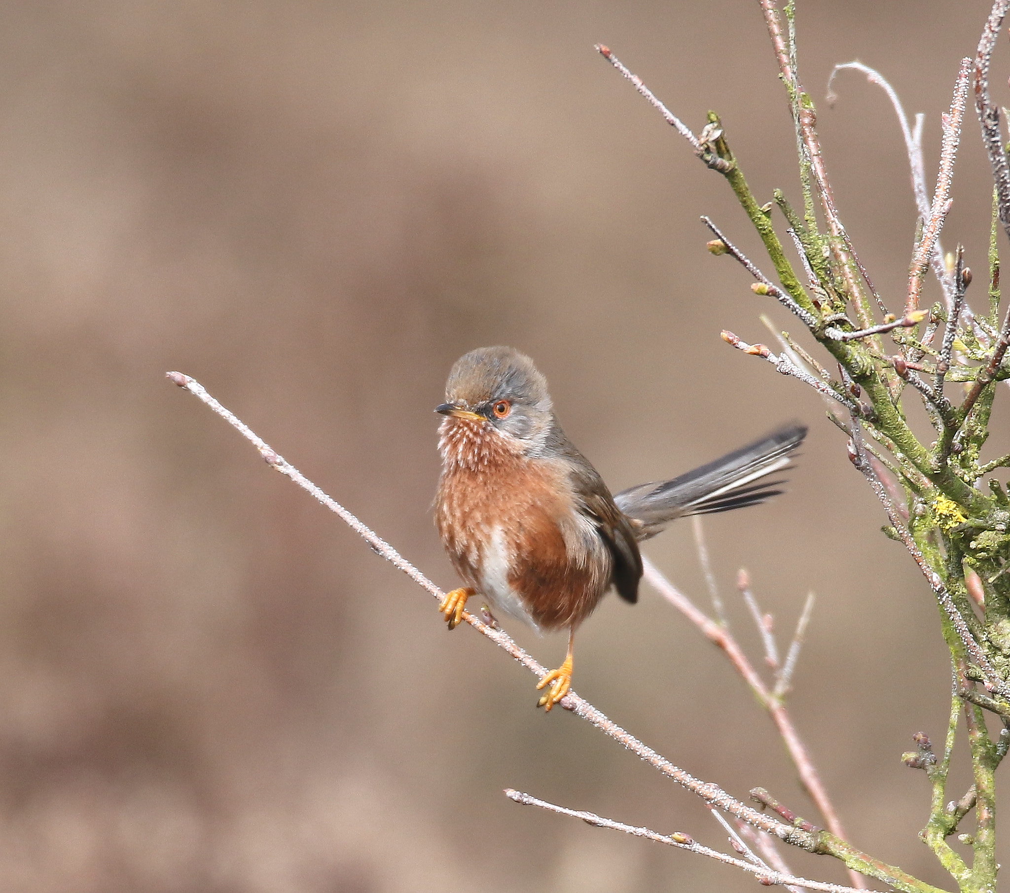
[[632,519],[639,540],[654,536],[685,515],[758,505],[782,492],[775,488],[785,481],[768,478],[789,466],[790,454],[806,435],[805,425],[786,425],[672,481],[622,490],[614,502]]

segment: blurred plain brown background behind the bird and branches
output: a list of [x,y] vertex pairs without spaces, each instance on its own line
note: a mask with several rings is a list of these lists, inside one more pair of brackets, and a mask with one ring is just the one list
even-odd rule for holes
[[[858,58],[928,114],[932,182],[987,11],[801,4],[843,219],[895,305],[914,227],[898,126],[853,73],[828,109],[827,74]],[[762,311],[798,325],[706,254],[702,213],[758,252],[721,178],[596,41],[690,125],[719,110],[759,195],[797,200],[752,0],[0,7],[5,890],[752,887],[509,802],[516,787],[724,840],[613,741],[536,711],[528,674],[446,634],[428,596],[164,378],[197,377],[448,587],[431,409],[452,361],[491,343],[537,361],[615,489],[811,423],[787,496],[707,522],[719,582],[751,646],[738,567],[787,640],[817,592],[800,729],[854,842],[943,882],[917,839],[925,778],[899,762],[944,723],[933,601],[816,396],[719,340],[767,340]],[[995,72],[1007,103],[1005,47]],[[977,133],[971,117],[943,236],[980,269]],[[689,524],[647,553],[707,604]],[[510,631],[561,660],[561,637]],[[581,694],[674,762],[815,818],[721,655],[647,588],[601,607],[577,667]]]

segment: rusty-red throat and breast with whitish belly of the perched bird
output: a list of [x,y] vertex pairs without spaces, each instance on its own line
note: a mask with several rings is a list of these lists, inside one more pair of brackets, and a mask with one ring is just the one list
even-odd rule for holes
[[610,554],[576,511],[561,461],[529,459],[490,426],[443,423],[435,524],[464,580],[549,631],[577,626],[610,583]]

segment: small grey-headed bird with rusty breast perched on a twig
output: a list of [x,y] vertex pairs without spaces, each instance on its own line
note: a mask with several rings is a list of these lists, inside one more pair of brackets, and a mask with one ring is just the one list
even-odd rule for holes
[[789,423],[668,481],[611,495],[554,415],[547,383],[513,348],[461,357],[445,383],[438,428],[441,475],[434,521],[466,584],[438,610],[452,629],[480,593],[492,612],[539,632],[567,629],[568,654],[536,688],[549,712],[572,687],[575,633],[612,588],[638,599],[638,543],[687,515],[756,505],[782,491],[807,428]]

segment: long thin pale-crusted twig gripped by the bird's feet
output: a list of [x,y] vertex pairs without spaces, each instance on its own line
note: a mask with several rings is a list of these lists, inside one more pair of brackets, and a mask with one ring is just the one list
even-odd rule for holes
[[[257,448],[260,455],[267,461],[268,465],[281,472],[281,474],[289,477],[292,481],[298,484],[299,487],[310,493],[330,511],[339,515],[351,529],[354,529],[365,539],[366,542],[368,542],[376,554],[386,559],[386,561],[390,562],[390,564],[394,567],[399,568],[418,586],[433,595],[435,598],[440,600],[444,597],[444,593],[437,586],[435,586],[434,583],[428,580],[428,578],[418,571],[417,568],[404,559],[395,549],[393,549],[392,545],[386,542],[385,539],[371,530],[368,526],[363,524],[342,505],[327,496],[318,486],[313,484],[301,472],[299,472],[298,469],[286,462],[244,422],[242,422],[237,416],[223,407],[217,402],[217,400],[208,394],[203,385],[195,379],[190,378],[188,375],[184,375],[180,372],[170,372],[167,376],[170,381],[199,398],[203,403],[209,406],[214,412],[220,415],[223,419],[225,419],[225,421],[241,433],[245,439]],[[546,675],[547,671],[535,660],[533,660],[533,658],[531,658],[525,651],[519,648],[503,630],[495,629],[487,623],[483,623],[476,616],[467,611],[464,612],[463,619],[482,635],[487,636],[495,642],[495,644],[507,652],[512,658],[522,664],[523,667],[533,673],[537,678],[542,679],[543,676]],[[817,839],[815,835],[809,833],[808,831],[805,831],[802,828],[790,827],[789,825],[778,821],[763,812],[760,812],[753,807],[747,806],[745,803],[741,803],[739,800],[730,797],[729,794],[717,785],[695,778],[695,776],[691,775],[691,773],[675,766],[651,748],[642,743],[630,732],[625,731],[587,700],[579,697],[579,695],[575,692],[570,691],[562,700],[561,705],[565,709],[571,710],[577,716],[580,716],[595,725],[636,757],[648,763],[663,775],[677,782],[677,784],[687,788],[706,803],[716,806],[730,815],[733,815],[748,824],[752,824],[754,827],[761,828],[779,839],[793,844],[794,846],[811,851],[817,847]]]

